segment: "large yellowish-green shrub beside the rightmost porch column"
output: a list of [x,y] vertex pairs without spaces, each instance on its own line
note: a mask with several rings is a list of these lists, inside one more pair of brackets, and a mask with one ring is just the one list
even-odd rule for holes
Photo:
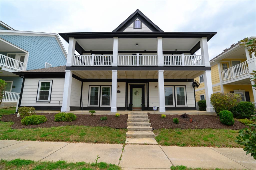
[[230,110],[236,106],[241,100],[241,95],[235,93],[213,93],[210,100],[217,115],[219,115],[220,111]]

